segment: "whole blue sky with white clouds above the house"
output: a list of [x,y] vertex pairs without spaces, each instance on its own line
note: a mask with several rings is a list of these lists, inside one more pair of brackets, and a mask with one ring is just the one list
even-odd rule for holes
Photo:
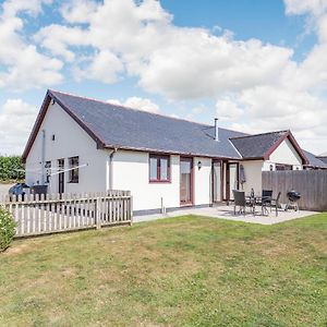
[[48,88],[327,152],[327,0],[0,0],[0,154]]

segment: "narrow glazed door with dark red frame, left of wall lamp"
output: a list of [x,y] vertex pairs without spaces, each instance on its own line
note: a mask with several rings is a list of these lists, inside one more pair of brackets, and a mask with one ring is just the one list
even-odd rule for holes
[[193,204],[193,159],[181,157],[180,162],[180,203],[181,205]]

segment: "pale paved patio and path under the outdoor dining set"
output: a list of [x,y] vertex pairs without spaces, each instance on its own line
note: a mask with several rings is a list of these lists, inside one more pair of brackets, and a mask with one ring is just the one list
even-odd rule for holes
[[157,220],[162,218],[170,218],[170,217],[179,217],[185,215],[194,215],[194,216],[204,216],[210,218],[220,218],[227,220],[235,220],[235,221],[244,221],[244,222],[252,222],[252,223],[261,223],[261,225],[274,225],[279,223],[288,220],[293,220],[298,218],[303,218],[307,216],[312,216],[318,213],[315,211],[294,211],[288,210],[284,211],[282,209],[278,210],[278,216],[276,217],[275,210],[270,213],[268,211],[267,216],[262,215],[261,207],[256,207],[255,216],[250,213],[247,209],[246,215],[234,215],[233,214],[233,205],[227,206],[214,206],[214,207],[205,207],[205,208],[185,208],[185,209],[177,209],[173,211],[169,211],[167,214],[157,214],[157,215],[144,215],[144,216],[134,216],[134,222],[142,222],[142,221],[150,221]]

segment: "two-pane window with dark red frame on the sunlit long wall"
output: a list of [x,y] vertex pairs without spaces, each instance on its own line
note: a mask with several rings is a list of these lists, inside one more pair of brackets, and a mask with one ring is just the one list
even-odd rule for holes
[[149,181],[170,182],[170,157],[149,155]]

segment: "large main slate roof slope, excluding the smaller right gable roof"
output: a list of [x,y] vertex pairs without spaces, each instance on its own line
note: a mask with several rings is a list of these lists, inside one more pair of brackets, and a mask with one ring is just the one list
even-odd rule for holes
[[245,135],[182,119],[49,90],[49,96],[92,131],[105,147],[238,158],[229,138]]

